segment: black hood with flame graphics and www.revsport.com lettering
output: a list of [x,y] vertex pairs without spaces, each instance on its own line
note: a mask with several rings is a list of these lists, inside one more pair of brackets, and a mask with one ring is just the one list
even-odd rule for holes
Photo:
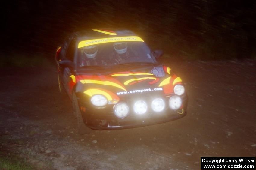
[[[120,70],[120,69],[119,69]],[[122,100],[127,97],[168,95],[173,86],[181,84],[169,67],[122,68],[121,71],[105,73],[78,73],[70,76],[70,90],[89,96],[102,94],[108,100]]]

